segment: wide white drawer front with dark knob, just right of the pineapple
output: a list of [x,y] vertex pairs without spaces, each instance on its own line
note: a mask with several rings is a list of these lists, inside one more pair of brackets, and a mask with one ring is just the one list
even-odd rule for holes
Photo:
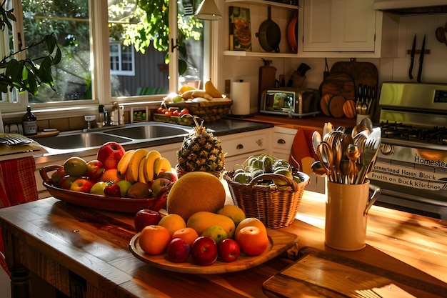
[[241,154],[246,154],[248,157],[251,152],[256,152],[262,149],[264,152],[268,152],[268,139],[265,134],[237,134],[237,138],[221,138],[221,141],[222,149],[226,152],[226,157],[233,157]]

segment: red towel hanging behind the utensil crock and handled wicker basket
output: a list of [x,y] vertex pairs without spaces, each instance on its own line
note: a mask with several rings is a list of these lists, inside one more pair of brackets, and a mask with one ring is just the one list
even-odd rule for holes
[[299,171],[311,174],[311,164],[318,160],[312,146],[312,134],[314,129],[300,127],[293,139],[292,149],[288,157],[288,163]]

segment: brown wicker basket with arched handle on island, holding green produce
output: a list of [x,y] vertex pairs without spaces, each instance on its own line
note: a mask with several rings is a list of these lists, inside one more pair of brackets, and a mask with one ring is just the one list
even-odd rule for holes
[[[246,217],[256,217],[270,229],[287,227],[293,222],[301,204],[304,188],[309,182],[307,174],[296,172],[301,179],[296,183],[281,174],[261,174],[249,184],[233,181],[234,172],[226,172],[224,179],[228,183],[233,204],[245,212]],[[280,179],[284,186],[256,185],[261,180]]]

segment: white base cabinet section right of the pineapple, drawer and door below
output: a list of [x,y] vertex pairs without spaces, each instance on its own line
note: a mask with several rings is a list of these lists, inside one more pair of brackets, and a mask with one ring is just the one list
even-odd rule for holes
[[232,171],[236,164],[242,164],[251,155],[267,153],[271,144],[271,129],[241,132],[217,136],[226,152],[225,169]]

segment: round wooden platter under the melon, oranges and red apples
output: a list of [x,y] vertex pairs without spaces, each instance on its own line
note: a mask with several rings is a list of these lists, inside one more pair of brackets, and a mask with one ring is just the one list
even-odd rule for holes
[[132,237],[129,243],[129,249],[135,257],[141,259],[141,261],[172,272],[193,273],[193,274],[218,274],[226,272],[236,272],[256,267],[264,262],[267,262],[279,254],[285,252],[287,249],[293,247],[296,243],[296,234],[288,232],[282,232],[278,229],[267,229],[268,239],[270,243],[265,252],[258,256],[247,256],[246,254],[239,255],[238,259],[234,262],[224,262],[220,258],[217,259],[214,264],[209,266],[200,266],[194,264],[191,257],[186,259],[185,262],[175,263],[167,259],[166,254],[150,255],[146,254],[141,249],[139,244],[140,233]]

